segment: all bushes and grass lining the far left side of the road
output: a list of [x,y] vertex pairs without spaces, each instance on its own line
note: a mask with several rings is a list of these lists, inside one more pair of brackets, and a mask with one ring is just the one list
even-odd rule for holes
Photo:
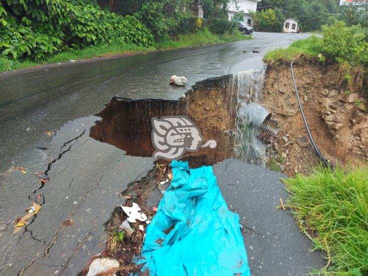
[[121,0],[113,6],[102,0],[0,0],[0,71],[250,39],[220,8],[229,1],[208,1],[200,19],[194,0]]

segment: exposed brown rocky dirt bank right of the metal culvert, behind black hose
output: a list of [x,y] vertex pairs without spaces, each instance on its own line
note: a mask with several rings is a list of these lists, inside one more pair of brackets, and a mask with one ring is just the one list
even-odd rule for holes
[[[294,67],[303,110],[324,157],[336,164],[368,160],[368,103],[338,83],[335,67]],[[318,162],[309,141],[291,78],[290,67],[268,68],[261,102],[272,112],[280,132],[268,159],[285,173],[307,172]]]

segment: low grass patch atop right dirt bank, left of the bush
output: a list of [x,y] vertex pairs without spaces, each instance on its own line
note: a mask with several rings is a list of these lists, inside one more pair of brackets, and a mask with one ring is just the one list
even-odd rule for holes
[[263,60],[269,64],[290,63],[295,58],[316,59],[318,57],[318,43],[320,38],[316,36],[298,40],[288,48],[279,48],[269,51]]

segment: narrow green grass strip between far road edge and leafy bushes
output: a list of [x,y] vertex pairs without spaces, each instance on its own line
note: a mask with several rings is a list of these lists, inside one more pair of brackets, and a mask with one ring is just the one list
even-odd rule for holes
[[74,49],[66,52],[60,52],[58,54],[37,61],[27,59],[14,60],[0,56],[0,72],[35,67],[51,63],[65,62],[69,60],[80,60],[110,55],[133,54],[140,52],[155,51],[157,49],[180,48],[195,45],[233,42],[247,39],[251,39],[251,36],[244,36],[237,31],[232,34],[225,34],[218,36],[211,33],[207,28],[203,28],[202,30],[199,30],[197,33],[179,35],[175,39],[159,42],[157,48],[140,47],[135,44],[120,43],[110,45],[89,46],[84,49]]

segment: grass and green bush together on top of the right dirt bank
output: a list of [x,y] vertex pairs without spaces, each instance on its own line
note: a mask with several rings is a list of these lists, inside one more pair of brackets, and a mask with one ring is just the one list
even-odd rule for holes
[[264,56],[264,61],[272,66],[289,65],[293,60],[320,66],[336,65],[340,84],[345,90],[358,90],[367,95],[368,42],[365,29],[360,25],[346,26],[345,22],[336,21],[322,26],[322,35],[270,51]]

